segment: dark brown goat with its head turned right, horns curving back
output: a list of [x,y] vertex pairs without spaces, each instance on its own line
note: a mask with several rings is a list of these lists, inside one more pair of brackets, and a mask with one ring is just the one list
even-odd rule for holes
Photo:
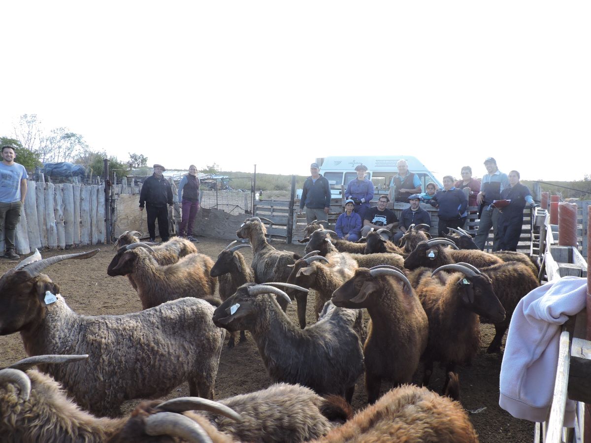
[[[454,372],[456,364],[472,361],[480,347],[478,315],[495,322],[505,319],[505,309],[488,276],[457,263],[440,266],[432,275],[446,270],[459,272],[449,276],[445,285],[437,278],[423,276],[416,289],[429,319],[429,341],[423,354],[424,386],[429,383],[434,361],[446,365],[446,374]],[[446,376],[444,392],[449,380]]]

